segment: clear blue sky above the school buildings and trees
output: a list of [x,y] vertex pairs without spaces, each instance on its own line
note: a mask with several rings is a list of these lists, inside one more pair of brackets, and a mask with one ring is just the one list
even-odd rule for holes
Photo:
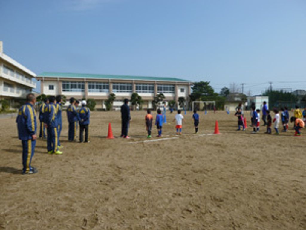
[[0,0],[0,9],[4,52],[36,74],[306,89],[305,0]]

